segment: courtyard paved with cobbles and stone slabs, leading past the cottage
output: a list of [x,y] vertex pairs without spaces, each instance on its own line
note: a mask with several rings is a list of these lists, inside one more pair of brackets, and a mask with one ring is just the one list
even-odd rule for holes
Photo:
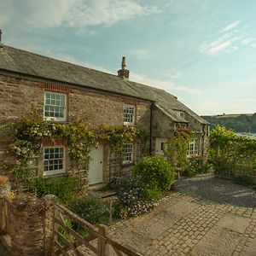
[[177,181],[153,212],[110,235],[143,255],[256,255],[256,190],[212,174]]

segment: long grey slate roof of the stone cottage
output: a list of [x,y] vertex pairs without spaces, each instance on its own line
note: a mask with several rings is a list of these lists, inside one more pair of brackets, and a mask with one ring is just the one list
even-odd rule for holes
[[158,107],[168,112],[170,118],[172,117],[174,121],[187,122],[173,111],[176,109],[189,113],[202,124],[208,124],[205,119],[202,119],[201,116],[179,102],[176,96],[172,96],[165,90],[121,79],[110,73],[103,73],[26,50],[16,49],[5,44],[0,44],[0,69],[77,84],[94,90],[105,90],[124,96],[134,96],[156,102]]

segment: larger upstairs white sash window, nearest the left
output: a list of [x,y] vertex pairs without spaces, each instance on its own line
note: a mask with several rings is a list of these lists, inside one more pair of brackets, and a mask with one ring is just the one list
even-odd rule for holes
[[66,102],[65,94],[46,91],[44,93],[44,118],[66,121]]

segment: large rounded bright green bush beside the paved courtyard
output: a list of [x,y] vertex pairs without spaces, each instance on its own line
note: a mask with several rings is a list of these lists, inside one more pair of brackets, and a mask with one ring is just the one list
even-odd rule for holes
[[174,182],[172,166],[160,156],[148,156],[137,163],[132,170],[134,176],[140,176],[140,186],[143,189],[153,189],[164,192],[170,189]]

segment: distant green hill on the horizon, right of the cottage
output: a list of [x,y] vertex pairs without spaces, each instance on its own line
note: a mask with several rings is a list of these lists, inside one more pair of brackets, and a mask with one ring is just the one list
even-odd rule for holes
[[256,113],[203,115],[202,117],[211,124],[211,129],[216,125],[223,125],[236,132],[256,133]]

